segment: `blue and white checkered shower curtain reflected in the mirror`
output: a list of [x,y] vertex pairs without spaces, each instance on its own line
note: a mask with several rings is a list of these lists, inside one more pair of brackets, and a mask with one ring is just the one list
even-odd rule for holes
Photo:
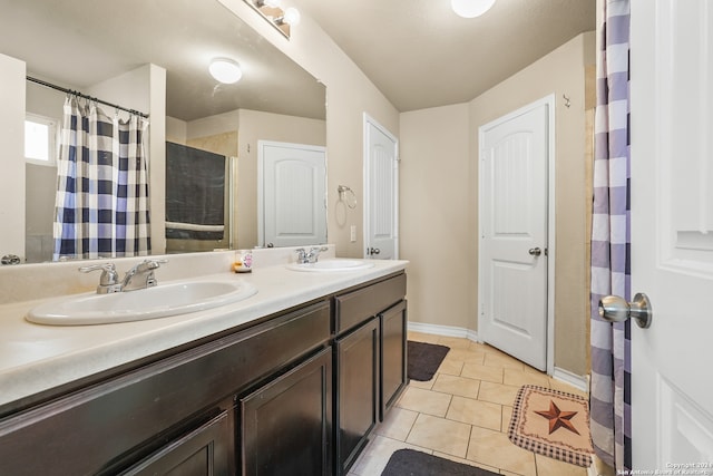
[[57,163],[55,261],[150,253],[148,122],[123,122],[95,103],[65,101]]

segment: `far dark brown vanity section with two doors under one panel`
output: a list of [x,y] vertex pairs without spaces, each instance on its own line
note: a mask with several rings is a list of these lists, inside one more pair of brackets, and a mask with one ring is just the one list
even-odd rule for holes
[[406,274],[334,298],[336,475],[406,386]]

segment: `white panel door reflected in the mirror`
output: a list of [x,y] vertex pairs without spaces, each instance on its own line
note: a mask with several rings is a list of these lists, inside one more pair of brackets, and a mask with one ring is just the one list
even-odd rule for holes
[[326,243],[324,147],[260,140],[258,243]]

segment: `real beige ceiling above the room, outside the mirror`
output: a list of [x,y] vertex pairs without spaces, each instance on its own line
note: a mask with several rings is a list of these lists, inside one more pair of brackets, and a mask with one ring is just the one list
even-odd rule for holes
[[469,101],[595,30],[596,19],[595,0],[497,0],[473,19],[456,16],[449,0],[287,1],[400,111]]

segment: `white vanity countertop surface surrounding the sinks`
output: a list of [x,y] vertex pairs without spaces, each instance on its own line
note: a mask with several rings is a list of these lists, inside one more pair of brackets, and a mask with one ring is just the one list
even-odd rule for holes
[[[273,264],[251,273],[202,275],[195,279],[245,280],[258,291],[222,308],[137,322],[40,326],[26,321],[25,314],[43,300],[2,304],[0,406],[389,275],[408,262],[373,263],[358,271],[309,273]],[[158,285],[162,282],[169,281]]]

